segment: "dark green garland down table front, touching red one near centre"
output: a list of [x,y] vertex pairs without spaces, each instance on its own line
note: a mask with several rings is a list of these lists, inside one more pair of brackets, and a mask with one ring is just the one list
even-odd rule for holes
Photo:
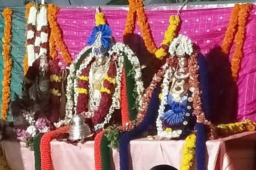
[[108,145],[110,142],[107,137],[102,135],[100,142],[100,157],[102,170],[110,170],[110,148]]

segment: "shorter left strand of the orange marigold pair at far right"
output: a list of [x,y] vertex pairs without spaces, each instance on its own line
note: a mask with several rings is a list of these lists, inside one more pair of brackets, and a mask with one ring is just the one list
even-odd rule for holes
[[225,37],[224,37],[223,42],[221,44],[222,51],[225,54],[229,53],[229,50],[231,48],[233,39],[235,37],[236,26],[237,26],[237,23],[238,23],[239,10],[240,10],[240,5],[235,4],[235,6],[234,6],[234,8],[232,9],[232,12],[231,12],[228,28],[227,28],[227,31],[225,33]]

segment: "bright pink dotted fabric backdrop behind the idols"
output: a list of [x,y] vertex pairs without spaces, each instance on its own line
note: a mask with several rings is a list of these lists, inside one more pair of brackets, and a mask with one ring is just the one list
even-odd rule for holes
[[[220,45],[230,18],[232,8],[212,8],[193,9],[181,11],[180,34],[189,36],[194,43],[200,46],[203,54],[208,54],[216,45]],[[209,5],[210,7],[210,5]],[[208,8],[207,5],[204,8]],[[113,36],[117,42],[123,40],[123,30],[125,28],[127,8],[112,9],[103,8],[107,22],[113,31]],[[146,8],[146,15],[150,25],[154,41],[160,45],[164,37],[164,32],[169,25],[169,16],[176,14],[176,10],[168,8]],[[63,38],[75,58],[78,52],[87,45],[86,39],[90,35],[94,22],[95,10],[82,7],[61,8],[58,14],[58,22],[63,31]],[[250,12],[249,23],[246,26],[246,40],[244,44],[244,58],[241,64],[240,78],[238,85],[238,112],[239,120],[251,119],[256,121],[256,8]],[[136,25],[135,32],[140,35],[141,31]],[[232,58],[234,45],[231,50]],[[139,56],[147,58],[148,56]],[[220,90],[221,91],[221,90]],[[218,105],[216,105],[218,106]],[[214,113],[213,113],[214,114]]]

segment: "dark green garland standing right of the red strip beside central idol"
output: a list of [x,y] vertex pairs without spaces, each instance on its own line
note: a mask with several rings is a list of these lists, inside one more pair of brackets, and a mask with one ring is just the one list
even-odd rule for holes
[[137,110],[134,107],[134,103],[136,102],[134,93],[134,76],[132,71],[132,64],[128,60],[127,56],[124,55],[124,72],[125,72],[125,79],[126,79],[126,89],[127,89],[127,103],[128,103],[128,110],[129,110],[129,118],[130,121],[133,121],[137,118]]

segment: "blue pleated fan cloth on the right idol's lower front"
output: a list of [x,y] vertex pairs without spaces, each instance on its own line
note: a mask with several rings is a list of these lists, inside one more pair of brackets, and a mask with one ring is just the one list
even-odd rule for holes
[[177,102],[173,102],[172,109],[166,111],[161,117],[168,125],[179,125],[185,117],[185,107]]

